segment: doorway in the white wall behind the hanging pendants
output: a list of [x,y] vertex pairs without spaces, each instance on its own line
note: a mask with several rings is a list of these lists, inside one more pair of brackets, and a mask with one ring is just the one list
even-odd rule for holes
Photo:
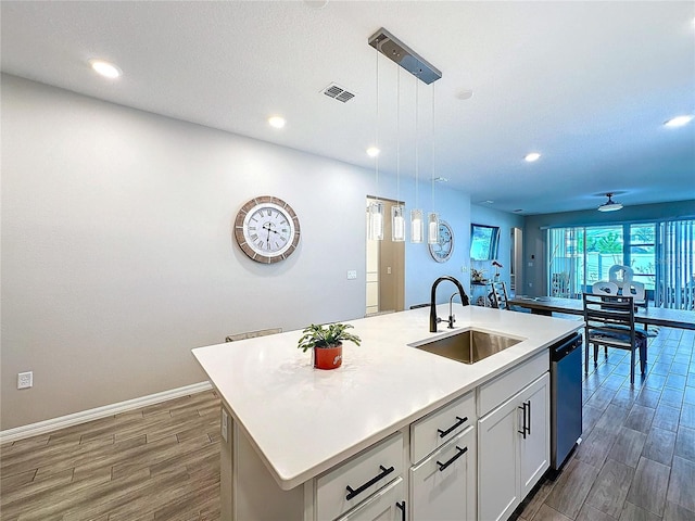
[[[368,196],[367,207],[376,198]],[[367,302],[365,315],[402,312],[405,308],[405,242],[391,240],[391,207],[397,201],[379,199],[383,203],[383,240],[375,241],[366,237]],[[401,204],[405,204],[401,202]],[[365,231],[368,219],[365,212]]]

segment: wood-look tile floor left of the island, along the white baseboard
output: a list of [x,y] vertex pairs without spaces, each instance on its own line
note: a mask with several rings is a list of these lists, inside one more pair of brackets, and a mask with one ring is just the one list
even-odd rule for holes
[[219,520],[213,391],[0,446],[2,521]]

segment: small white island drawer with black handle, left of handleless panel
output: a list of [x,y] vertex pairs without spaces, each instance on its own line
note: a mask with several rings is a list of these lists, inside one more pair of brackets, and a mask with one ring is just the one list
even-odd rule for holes
[[476,424],[473,393],[456,398],[410,424],[410,460],[416,463],[469,425]]

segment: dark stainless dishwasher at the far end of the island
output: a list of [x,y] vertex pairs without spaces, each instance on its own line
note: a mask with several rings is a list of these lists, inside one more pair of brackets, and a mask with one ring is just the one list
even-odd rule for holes
[[581,443],[582,335],[573,333],[551,346],[551,478]]

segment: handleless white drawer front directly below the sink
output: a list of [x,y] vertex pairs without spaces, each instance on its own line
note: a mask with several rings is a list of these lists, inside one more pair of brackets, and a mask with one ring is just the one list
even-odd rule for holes
[[551,355],[543,350],[520,366],[500,374],[479,389],[478,416],[483,417],[551,368]]

